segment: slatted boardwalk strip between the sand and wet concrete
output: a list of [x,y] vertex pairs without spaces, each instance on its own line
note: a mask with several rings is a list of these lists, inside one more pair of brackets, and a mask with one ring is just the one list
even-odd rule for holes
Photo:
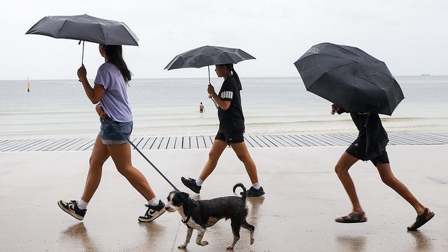
[[[247,147],[348,146],[356,134],[245,135]],[[134,137],[139,149],[210,149],[214,136]],[[0,151],[90,151],[93,138],[0,140]],[[448,133],[390,133],[389,145],[447,145]]]

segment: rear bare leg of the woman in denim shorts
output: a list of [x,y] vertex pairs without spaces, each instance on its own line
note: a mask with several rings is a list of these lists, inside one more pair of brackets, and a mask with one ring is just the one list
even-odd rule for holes
[[89,159],[89,173],[87,175],[87,180],[85,181],[83,196],[81,200],[84,202],[90,202],[93,194],[99,186],[101,181],[101,173],[103,171],[103,164],[105,160],[109,158],[108,148],[103,145],[101,138],[96,136],[95,144],[93,146],[92,155]]

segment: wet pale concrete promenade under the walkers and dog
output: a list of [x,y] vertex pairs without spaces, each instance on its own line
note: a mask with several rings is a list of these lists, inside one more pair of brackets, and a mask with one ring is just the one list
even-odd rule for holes
[[[247,221],[255,242],[241,230],[234,251],[446,251],[448,248],[448,185],[444,157],[448,145],[388,147],[392,170],[436,216],[417,232],[407,232],[416,213],[383,185],[376,168],[358,162],[352,168],[363,224],[339,224],[351,207],[334,165],[345,147],[250,149],[266,195],[249,198]],[[207,149],[144,151],[154,164],[188,191],[181,176],[198,176]],[[134,166],[164,201],[172,190],[135,151]],[[178,213],[165,213],[152,223],[139,223],[145,200],[108,160],[101,185],[83,222],[57,206],[59,199],[81,196],[90,152],[0,154],[0,251],[225,251],[232,242],[230,221],[221,220],[187,250],[177,249],[186,227]],[[214,174],[203,184],[202,199],[232,195],[236,182],[250,187],[243,164],[226,149]],[[192,196],[196,199],[194,193]]]

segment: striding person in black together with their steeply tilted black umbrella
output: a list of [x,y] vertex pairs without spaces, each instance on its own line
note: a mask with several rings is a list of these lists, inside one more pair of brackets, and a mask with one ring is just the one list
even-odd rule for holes
[[395,178],[389,165],[386,152],[389,139],[378,114],[391,116],[405,96],[387,65],[359,48],[332,43],[313,45],[294,65],[306,89],[332,101],[332,114],[350,112],[359,131],[358,138],[340,156],[335,167],[353,204],[352,213],[336,218],[336,222],[367,221],[348,172],[358,160],[371,160],[381,180],[414,207],[418,216],[408,230],[416,230],[431,220],[434,212],[418,202]]

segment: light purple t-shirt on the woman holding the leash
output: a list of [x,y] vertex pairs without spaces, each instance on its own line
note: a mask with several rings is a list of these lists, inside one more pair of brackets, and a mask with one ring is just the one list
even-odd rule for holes
[[126,93],[127,84],[119,68],[107,62],[100,65],[94,83],[103,85],[105,89],[99,101],[105,114],[117,122],[132,122],[131,107]]

